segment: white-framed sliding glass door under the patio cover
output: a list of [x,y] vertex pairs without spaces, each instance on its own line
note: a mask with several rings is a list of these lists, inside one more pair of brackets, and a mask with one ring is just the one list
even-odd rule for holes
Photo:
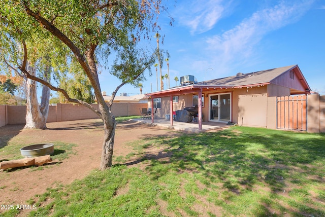
[[209,95],[209,121],[231,121],[231,93]]

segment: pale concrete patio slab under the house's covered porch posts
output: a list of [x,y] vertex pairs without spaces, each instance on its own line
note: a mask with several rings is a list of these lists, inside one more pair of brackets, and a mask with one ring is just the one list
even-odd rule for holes
[[194,133],[231,127],[231,125],[228,125],[227,123],[223,123],[223,122],[203,122],[202,130],[199,130],[199,123],[193,123],[193,122],[184,123],[184,122],[173,121],[173,126],[171,126],[170,120],[163,119],[163,118],[156,118],[153,120],[153,123],[151,123],[151,119],[139,118],[133,120],[140,123],[153,125],[153,126],[165,127],[168,129],[194,132]]

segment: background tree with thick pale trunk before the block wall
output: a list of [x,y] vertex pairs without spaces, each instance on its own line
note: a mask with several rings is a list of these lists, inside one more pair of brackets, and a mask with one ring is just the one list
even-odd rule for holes
[[[3,12],[3,11],[1,11]],[[14,13],[9,11],[8,14],[1,13],[1,40],[0,47],[0,71],[16,77],[20,76],[23,85],[26,87],[26,125],[25,128],[46,129],[46,121],[49,111],[49,87],[43,85],[41,103],[37,97],[37,83],[28,79],[18,68],[24,64],[25,70],[31,75],[37,74],[43,80],[50,82],[53,71],[52,60],[55,58],[53,52],[53,40],[41,39],[38,37],[37,42],[33,36],[26,34],[26,26],[19,26],[19,21],[15,20]],[[28,35],[24,38],[24,35]],[[53,52],[53,53],[51,53]],[[62,58],[59,56],[59,58]],[[12,73],[11,71],[14,71]]]

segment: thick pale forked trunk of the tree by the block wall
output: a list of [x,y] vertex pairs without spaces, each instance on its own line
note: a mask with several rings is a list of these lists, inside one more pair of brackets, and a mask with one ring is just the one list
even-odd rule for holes
[[[28,65],[27,70],[33,76],[36,68]],[[44,73],[44,80],[48,80],[49,71]],[[46,129],[46,120],[49,111],[50,89],[43,86],[41,106],[37,99],[36,81],[27,79],[26,125],[24,128]]]

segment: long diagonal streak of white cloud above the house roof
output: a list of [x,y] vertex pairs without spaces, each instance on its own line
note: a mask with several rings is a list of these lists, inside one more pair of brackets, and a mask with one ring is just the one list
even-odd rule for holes
[[207,39],[209,52],[214,52],[215,61],[224,67],[245,61],[266,34],[296,22],[311,4],[312,1],[281,1],[272,8],[257,11],[233,29]]

